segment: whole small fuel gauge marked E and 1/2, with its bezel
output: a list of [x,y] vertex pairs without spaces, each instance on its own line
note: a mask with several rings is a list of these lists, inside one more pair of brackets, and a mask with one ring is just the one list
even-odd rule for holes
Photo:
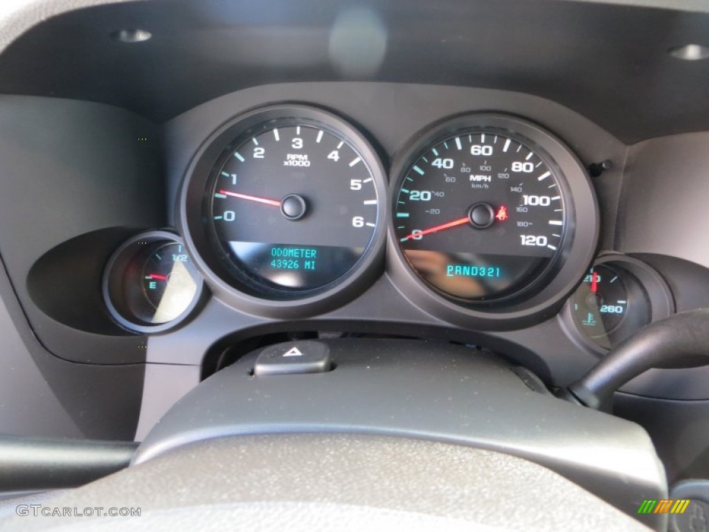
[[104,276],[108,309],[121,325],[140,332],[169,328],[196,304],[202,281],[184,245],[164,231],[123,244]]

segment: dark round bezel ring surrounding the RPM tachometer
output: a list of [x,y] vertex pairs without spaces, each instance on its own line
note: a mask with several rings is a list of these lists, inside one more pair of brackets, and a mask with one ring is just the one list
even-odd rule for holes
[[[379,199],[376,227],[369,246],[357,263],[342,277],[325,287],[289,299],[259,293],[233,275],[215,248],[213,235],[203,217],[204,196],[216,163],[245,132],[271,121],[292,119],[316,123],[347,139],[368,165]],[[198,270],[218,299],[248,314],[268,318],[295,318],[322,314],[342,306],[362,292],[384,270],[384,240],[389,206],[386,201],[386,170],[381,157],[367,138],[345,118],[310,104],[275,104],[257,107],[234,116],[214,131],[196,151],[187,168],[179,196],[179,227]]]

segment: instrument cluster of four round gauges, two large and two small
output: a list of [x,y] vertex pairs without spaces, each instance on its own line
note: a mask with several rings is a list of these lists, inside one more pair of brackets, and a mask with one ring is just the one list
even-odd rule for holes
[[[386,270],[432,316],[506,330],[553,316],[578,289],[564,319],[603,350],[649,323],[652,305],[630,271],[640,267],[588,270],[598,218],[579,158],[524,118],[449,116],[412,131],[389,164],[347,118],[272,104],[228,118],[202,143],[179,193],[181,236],[125,243],[104,297],[140,332],[177,326],[202,284],[247,314],[306,318],[347,304]],[[613,284],[614,272],[628,278]]]

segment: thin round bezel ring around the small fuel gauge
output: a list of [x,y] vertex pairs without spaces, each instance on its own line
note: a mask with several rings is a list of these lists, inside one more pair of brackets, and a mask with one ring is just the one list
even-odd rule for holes
[[[104,268],[104,275],[101,279],[101,294],[103,295],[106,309],[108,309],[108,314],[123,328],[135,333],[162,333],[169,331],[187,321],[205,299],[204,294],[206,290],[204,289],[203,279],[200,278],[196,279],[196,292],[189,305],[185,307],[184,311],[182,311],[179,316],[176,316],[170,321],[165,323],[147,323],[138,318],[138,316],[130,316],[131,313],[128,311],[128,306],[121,301],[120,287],[123,274],[130,261],[141,253],[141,248],[144,248],[145,245],[155,243],[176,243],[184,245],[184,241],[179,235],[169,231],[145,231],[133,235],[131,238],[128,238],[128,240],[125,240],[125,242],[113,252],[111,257],[108,258],[108,262]],[[190,259],[194,260],[193,257],[190,257]]]

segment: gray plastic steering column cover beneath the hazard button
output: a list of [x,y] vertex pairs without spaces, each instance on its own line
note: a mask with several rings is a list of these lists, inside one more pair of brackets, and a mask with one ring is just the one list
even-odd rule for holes
[[150,431],[134,463],[220,436],[374,433],[526,458],[628,513],[666,494],[640,426],[532,392],[496,358],[437,342],[327,343],[328,373],[254,377],[252,353],[206,379]]

